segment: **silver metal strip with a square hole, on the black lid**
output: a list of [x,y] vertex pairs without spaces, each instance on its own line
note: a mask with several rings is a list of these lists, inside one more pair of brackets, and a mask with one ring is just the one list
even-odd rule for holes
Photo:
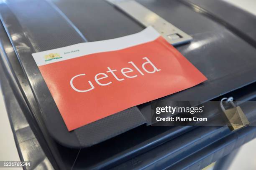
[[134,0],[106,1],[110,2],[112,5],[115,5],[115,7],[118,7],[124,13],[131,16],[145,27],[152,26],[172,45],[179,45],[192,40],[190,35]]

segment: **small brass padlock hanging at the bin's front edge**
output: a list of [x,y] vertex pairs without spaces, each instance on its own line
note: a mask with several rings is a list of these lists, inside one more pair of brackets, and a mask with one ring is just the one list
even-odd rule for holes
[[[233,106],[233,108],[226,110],[225,107],[223,106],[224,100],[226,104],[230,103]],[[235,103],[233,102],[233,97],[225,97],[221,99],[220,107],[224,112],[225,116],[228,118],[228,121],[230,123],[228,127],[230,128],[231,131],[243,128],[244,126],[248,126],[250,124],[241,107],[236,106]]]

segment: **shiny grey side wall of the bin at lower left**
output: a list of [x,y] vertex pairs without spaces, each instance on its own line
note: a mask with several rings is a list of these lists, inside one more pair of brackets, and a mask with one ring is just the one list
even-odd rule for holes
[[31,166],[29,167],[31,169],[54,170],[33,134],[5,76],[5,71],[0,65],[0,85],[20,160],[31,161]]

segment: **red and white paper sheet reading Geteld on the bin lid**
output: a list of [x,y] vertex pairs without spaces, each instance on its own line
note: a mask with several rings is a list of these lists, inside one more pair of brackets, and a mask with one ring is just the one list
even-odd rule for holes
[[[152,29],[95,42],[90,49],[83,43],[58,49],[59,53],[33,54],[69,131],[207,80],[158,33],[148,35]],[[147,35],[150,38],[143,41]],[[136,38],[140,42],[133,43]],[[116,46],[121,49],[113,50]],[[79,55],[83,50],[93,52]],[[39,61],[39,56],[44,59]]]

